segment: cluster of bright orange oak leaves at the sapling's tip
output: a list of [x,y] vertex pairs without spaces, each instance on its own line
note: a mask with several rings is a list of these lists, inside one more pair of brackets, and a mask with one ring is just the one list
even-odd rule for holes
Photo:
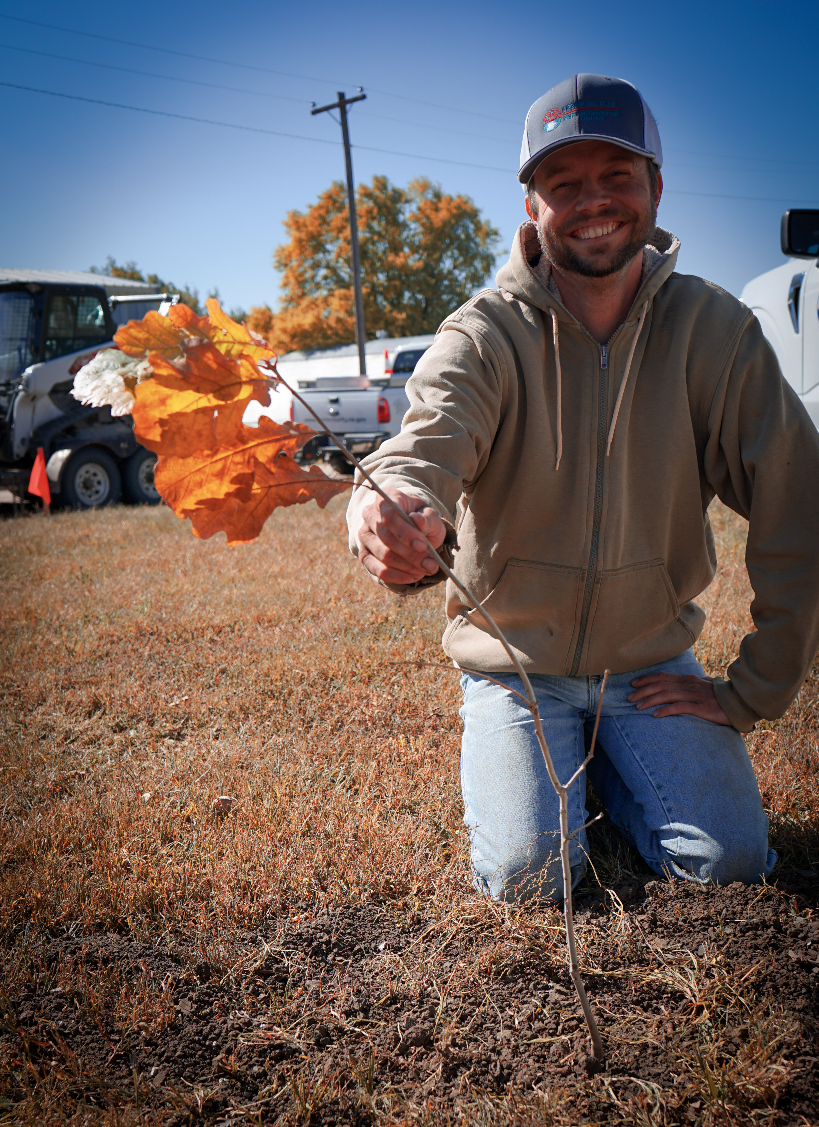
[[269,403],[275,375],[259,364],[275,354],[214,299],[207,310],[207,317],[186,305],[171,305],[168,317],[150,312],[128,321],[115,341],[150,365],[150,379],[133,389],[133,418],[139,442],[159,455],[157,489],[195,535],[223,531],[238,544],[258,536],[278,506],[314,498],[323,508],[349,483],[294,460],[315,434],[310,427],[265,416],[258,427],[244,426],[251,400]]

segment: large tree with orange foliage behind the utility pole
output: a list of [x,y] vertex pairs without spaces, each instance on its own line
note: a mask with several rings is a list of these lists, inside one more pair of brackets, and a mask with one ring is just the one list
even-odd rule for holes
[[[385,176],[359,184],[356,211],[364,323],[368,338],[435,332],[474,293],[495,264],[499,233],[469,196],[426,179],[407,189]],[[250,310],[247,325],[283,354],[355,340],[347,194],[335,181],[306,212],[284,221],[290,242],[276,247],[282,270],[278,312]]]

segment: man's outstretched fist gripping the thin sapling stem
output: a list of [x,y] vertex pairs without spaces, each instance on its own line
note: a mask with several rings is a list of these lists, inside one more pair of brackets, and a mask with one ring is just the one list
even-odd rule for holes
[[434,548],[440,548],[446,538],[444,522],[419,497],[410,497],[400,489],[384,492],[411,516],[415,527],[375,494],[362,509],[357,533],[362,564],[382,583],[409,584],[435,575],[438,565],[418,533],[422,532]]

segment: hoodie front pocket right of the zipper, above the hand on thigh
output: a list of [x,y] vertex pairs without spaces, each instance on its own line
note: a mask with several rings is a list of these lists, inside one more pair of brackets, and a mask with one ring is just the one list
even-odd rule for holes
[[596,583],[580,673],[625,673],[676,657],[692,645],[661,559],[603,571]]

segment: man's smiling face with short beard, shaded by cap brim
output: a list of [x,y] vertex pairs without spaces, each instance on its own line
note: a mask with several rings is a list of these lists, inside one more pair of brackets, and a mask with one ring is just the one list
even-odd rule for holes
[[560,269],[607,277],[639,255],[662,193],[651,193],[648,158],[608,141],[578,141],[548,157],[534,175],[543,252]]

